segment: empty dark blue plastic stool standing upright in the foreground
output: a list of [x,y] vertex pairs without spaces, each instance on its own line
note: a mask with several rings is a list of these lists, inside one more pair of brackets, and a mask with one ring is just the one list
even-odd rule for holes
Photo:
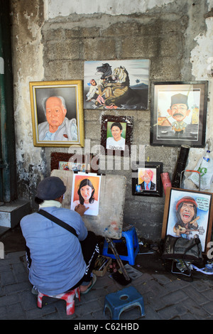
[[119,320],[121,312],[132,306],[139,306],[141,308],[141,316],[145,316],[143,296],[133,286],[129,286],[129,288],[109,293],[105,296],[104,315],[106,308],[109,308],[111,320]]

